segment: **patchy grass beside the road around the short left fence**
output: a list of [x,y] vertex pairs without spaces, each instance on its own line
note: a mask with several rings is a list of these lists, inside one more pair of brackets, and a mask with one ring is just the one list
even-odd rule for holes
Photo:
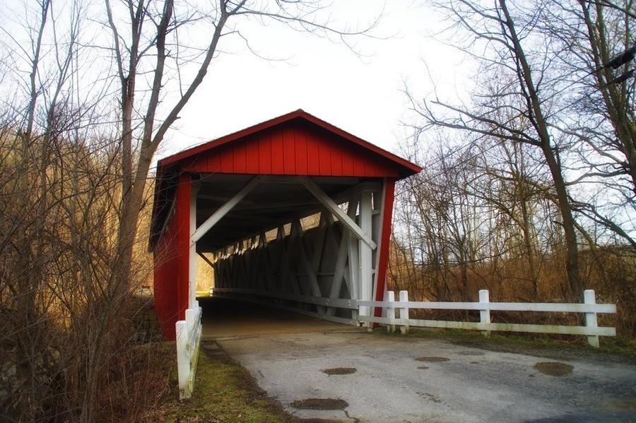
[[[262,391],[249,372],[224,352],[199,351],[194,393],[179,401],[174,342],[165,342],[163,371],[167,389],[145,422],[292,422],[280,404]],[[160,371],[153,369],[153,371]]]

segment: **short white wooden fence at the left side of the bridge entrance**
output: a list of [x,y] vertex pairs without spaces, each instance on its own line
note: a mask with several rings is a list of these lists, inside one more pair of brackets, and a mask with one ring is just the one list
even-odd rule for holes
[[196,362],[201,342],[201,307],[194,302],[193,309],[186,310],[186,319],[177,321],[177,373],[179,374],[179,399],[190,398],[194,388]]

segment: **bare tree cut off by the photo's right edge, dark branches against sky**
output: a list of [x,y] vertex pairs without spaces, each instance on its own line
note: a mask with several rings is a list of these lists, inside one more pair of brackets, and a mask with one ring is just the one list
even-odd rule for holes
[[568,75],[567,97],[555,126],[580,141],[577,183],[596,186],[605,201],[577,201],[579,213],[628,242],[636,241],[636,18],[633,1],[563,1],[546,8],[543,31],[555,66]]

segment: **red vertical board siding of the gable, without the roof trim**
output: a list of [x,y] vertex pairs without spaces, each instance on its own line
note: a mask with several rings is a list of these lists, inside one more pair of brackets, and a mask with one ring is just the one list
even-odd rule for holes
[[184,160],[187,172],[399,177],[394,163],[302,121],[251,134]]

